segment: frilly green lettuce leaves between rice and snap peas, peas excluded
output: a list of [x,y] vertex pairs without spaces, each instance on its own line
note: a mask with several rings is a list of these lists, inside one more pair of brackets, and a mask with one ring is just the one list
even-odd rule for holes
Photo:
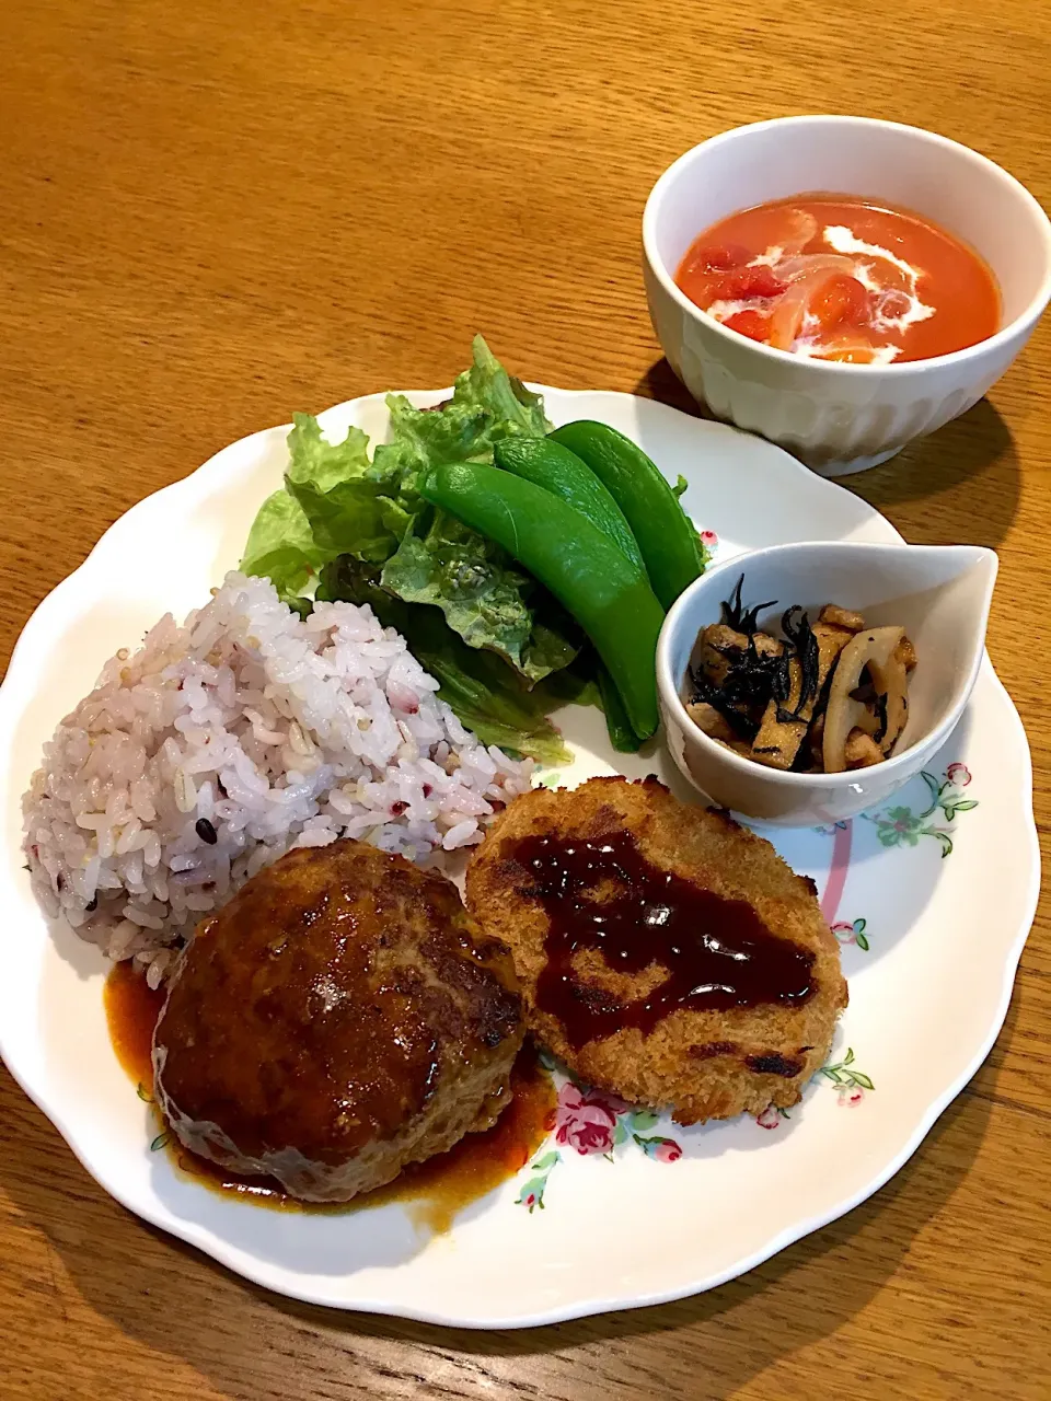
[[[324,597],[371,602],[486,744],[565,762],[544,713],[552,700],[531,688],[573,661],[580,630],[499,545],[434,510],[418,490],[443,462],[492,462],[502,439],[542,437],[551,427],[544,403],[481,336],[446,403],[416,409],[399,394],[387,403],[390,441],[377,444],[371,460],[360,429],[329,443],[315,417],[294,415],[284,486],[259,509],[241,569],[266,574],[303,614],[318,579]],[[335,565],[342,567],[328,567]],[[346,567],[360,565],[371,566],[367,580]],[[398,621],[394,602],[406,605]]]

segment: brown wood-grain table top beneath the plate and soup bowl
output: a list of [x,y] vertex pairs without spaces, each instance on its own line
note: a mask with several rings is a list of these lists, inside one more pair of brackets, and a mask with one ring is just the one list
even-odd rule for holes
[[[139,497],[291,408],[444,384],[478,328],[528,377],[682,403],[639,219],[723,127],[866,111],[1051,205],[1047,0],[764,13],[6,0],[4,657]],[[1001,551],[989,649],[1044,822],[1048,347],[1051,322],[988,402],[849,482],[911,541]],[[1044,905],[996,1049],[865,1206],[702,1297],[488,1335],[262,1295],[123,1212],[0,1070],[0,1395],[1045,1398],[1048,1026]]]

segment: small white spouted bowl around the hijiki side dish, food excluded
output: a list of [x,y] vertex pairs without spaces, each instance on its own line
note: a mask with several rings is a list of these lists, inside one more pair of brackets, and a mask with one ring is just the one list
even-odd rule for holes
[[[657,692],[668,748],[717,807],[785,827],[820,827],[884,803],[946,743],[974,688],[996,580],[994,551],[975,545],[772,545],[709,569],[675,600],[657,642]],[[835,602],[870,626],[901,623],[916,649],[908,723],[883,764],[846,773],[782,773],[710,740],[689,719],[685,693],[698,633],[720,621],[740,576],[746,604],[776,598],[761,625],[778,630],[792,604],[816,618]]]

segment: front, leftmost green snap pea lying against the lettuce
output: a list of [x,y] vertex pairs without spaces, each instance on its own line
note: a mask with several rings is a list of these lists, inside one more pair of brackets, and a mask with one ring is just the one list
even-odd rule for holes
[[632,730],[653,734],[664,609],[645,573],[580,511],[510,472],[446,464],[427,474],[420,496],[495,539],[558,598],[610,668]]

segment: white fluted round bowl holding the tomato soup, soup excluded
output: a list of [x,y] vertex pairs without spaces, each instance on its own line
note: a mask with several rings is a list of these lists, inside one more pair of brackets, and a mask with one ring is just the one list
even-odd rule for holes
[[[904,206],[970,244],[999,282],[1002,329],[904,364],[806,360],[727,331],[675,286],[687,249],[717,220],[814,191]],[[653,186],[642,241],[653,326],[694,398],[825,476],[884,462],[970,409],[1051,298],[1051,221],[1023,185],[943,136],[860,116],[779,118],[695,146]]]

